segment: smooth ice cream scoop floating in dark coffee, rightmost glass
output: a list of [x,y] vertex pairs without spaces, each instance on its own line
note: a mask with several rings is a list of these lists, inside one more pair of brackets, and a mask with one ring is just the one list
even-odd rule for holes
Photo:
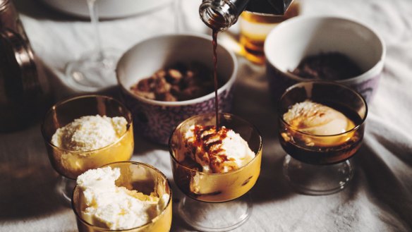
[[294,128],[313,135],[337,135],[355,127],[340,111],[310,100],[294,104],[283,118]]

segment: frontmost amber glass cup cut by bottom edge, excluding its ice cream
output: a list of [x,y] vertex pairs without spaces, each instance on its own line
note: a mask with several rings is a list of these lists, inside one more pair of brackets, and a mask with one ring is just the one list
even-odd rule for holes
[[[138,190],[140,193],[150,195],[155,193],[157,197],[162,197],[164,194],[169,195],[169,200],[164,202],[164,205],[160,206],[162,212],[159,213],[152,221],[147,224],[127,230],[127,232],[167,232],[171,227],[171,187],[166,176],[153,166],[148,164],[123,161],[112,164],[107,164],[112,169],[120,169],[120,177],[116,180],[116,186],[125,187],[128,190]],[[71,205],[73,212],[75,213],[78,231],[79,232],[108,232],[112,231],[109,228],[102,228],[90,224],[87,219],[82,217],[82,211],[85,209],[85,203],[82,202],[81,190],[77,186],[73,190],[73,199]]]

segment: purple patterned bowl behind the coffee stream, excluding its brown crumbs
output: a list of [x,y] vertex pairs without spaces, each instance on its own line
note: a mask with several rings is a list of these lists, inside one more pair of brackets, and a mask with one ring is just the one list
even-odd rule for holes
[[[218,45],[217,74],[222,87],[217,91],[219,111],[231,111],[236,79],[237,61],[234,54]],[[212,36],[161,35],[136,44],[119,60],[116,76],[124,102],[131,109],[135,130],[143,137],[167,145],[169,137],[179,123],[190,116],[214,112],[214,92],[182,102],[161,102],[145,99],[131,92],[138,80],[174,63],[198,62],[213,70]]]

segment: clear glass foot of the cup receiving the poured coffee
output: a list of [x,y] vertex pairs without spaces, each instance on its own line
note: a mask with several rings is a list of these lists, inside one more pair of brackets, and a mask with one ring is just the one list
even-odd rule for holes
[[[230,231],[245,223],[252,213],[250,195],[222,203],[208,203],[183,197],[178,212],[198,231]],[[229,213],[228,213],[229,212]]]

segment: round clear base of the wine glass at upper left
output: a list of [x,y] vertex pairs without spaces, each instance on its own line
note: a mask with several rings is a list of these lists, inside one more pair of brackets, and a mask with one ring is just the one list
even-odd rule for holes
[[86,54],[66,66],[68,83],[78,90],[92,92],[116,85],[116,65],[121,52],[106,49]]

